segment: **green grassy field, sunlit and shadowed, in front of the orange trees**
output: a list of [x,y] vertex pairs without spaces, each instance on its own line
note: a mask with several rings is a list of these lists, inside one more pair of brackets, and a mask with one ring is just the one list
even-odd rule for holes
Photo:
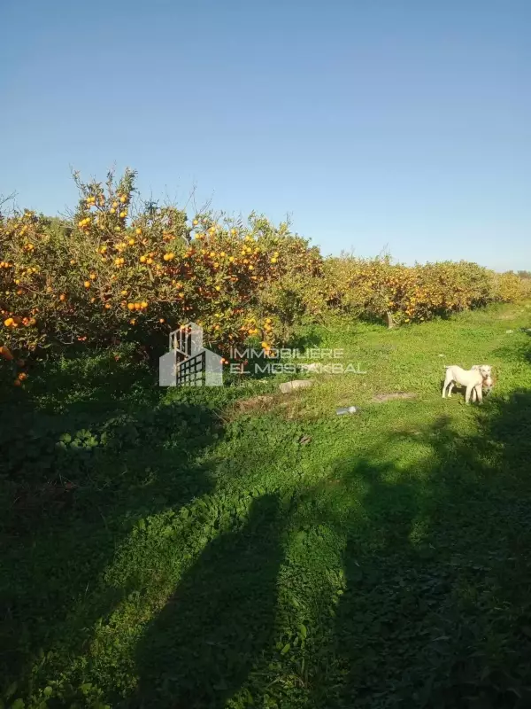
[[[531,706],[529,326],[306,331],[366,374],[289,395],[32,372],[0,439],[4,706]],[[482,362],[482,407],[442,399]]]

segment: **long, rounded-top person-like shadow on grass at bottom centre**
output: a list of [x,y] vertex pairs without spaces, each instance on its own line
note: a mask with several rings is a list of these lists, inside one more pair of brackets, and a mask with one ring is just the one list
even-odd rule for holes
[[208,544],[142,636],[128,707],[226,705],[271,643],[281,529],[279,499],[263,495],[243,526]]

